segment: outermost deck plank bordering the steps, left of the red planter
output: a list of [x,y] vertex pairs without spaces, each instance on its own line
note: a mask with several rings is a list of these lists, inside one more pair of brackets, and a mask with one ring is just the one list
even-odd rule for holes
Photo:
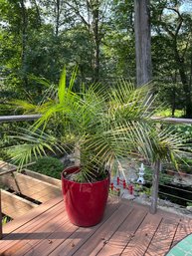
[[[21,240],[25,240],[29,233],[31,233],[34,238],[40,239],[41,235],[38,237],[34,232],[47,222],[51,221],[58,213],[61,212],[61,210],[63,210],[63,208],[61,208],[61,204],[57,204],[55,207],[44,212],[44,214],[38,215],[35,219],[28,222],[27,225],[19,227],[16,232],[7,235],[3,240],[0,241],[0,255],[10,247],[19,243]],[[66,214],[65,210],[64,214]]]

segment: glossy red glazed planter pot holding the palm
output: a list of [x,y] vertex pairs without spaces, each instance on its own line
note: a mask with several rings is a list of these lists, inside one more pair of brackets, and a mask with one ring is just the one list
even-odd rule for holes
[[103,216],[108,197],[109,175],[94,183],[79,183],[65,178],[65,173],[80,171],[79,166],[62,172],[62,190],[66,210],[71,222],[77,226],[96,225]]

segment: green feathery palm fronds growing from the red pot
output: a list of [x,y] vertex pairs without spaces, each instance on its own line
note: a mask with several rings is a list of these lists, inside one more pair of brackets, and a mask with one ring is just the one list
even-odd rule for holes
[[[175,163],[185,144],[180,133],[166,126],[160,128],[151,120],[157,106],[153,110],[155,98],[149,86],[135,89],[121,80],[109,89],[82,85],[81,92],[75,93],[76,75],[77,69],[67,81],[64,70],[52,99],[34,106],[34,112],[41,113],[42,118],[14,136],[20,143],[8,150],[13,159],[23,165],[33,156],[46,155],[47,150],[62,151],[64,144],[74,145],[80,151],[82,166],[78,179],[89,181],[99,179],[106,168],[112,169],[115,161],[127,154],[142,155],[149,162],[160,159]],[[30,105],[15,104],[22,108]],[[45,128],[50,123],[61,133],[47,133]]]

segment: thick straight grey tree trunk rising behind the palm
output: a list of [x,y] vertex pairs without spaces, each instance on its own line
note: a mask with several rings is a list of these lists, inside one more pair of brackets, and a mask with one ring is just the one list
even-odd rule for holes
[[138,87],[150,82],[152,78],[149,4],[150,0],[134,0],[136,83]]

